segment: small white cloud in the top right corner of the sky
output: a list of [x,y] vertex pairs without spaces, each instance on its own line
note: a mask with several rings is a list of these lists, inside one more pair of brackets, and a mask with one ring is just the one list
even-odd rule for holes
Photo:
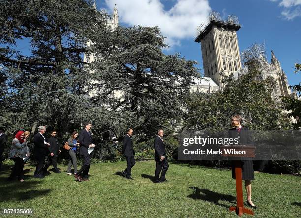
[[[279,0],[270,1],[275,2]],[[281,15],[286,20],[293,20],[295,17],[301,16],[301,0],[280,0],[279,6],[285,8]]]

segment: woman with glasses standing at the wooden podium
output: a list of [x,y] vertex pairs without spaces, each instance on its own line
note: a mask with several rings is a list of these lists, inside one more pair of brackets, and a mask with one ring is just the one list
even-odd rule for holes
[[[231,125],[234,127],[229,130],[229,138],[238,138],[239,145],[249,145],[253,146],[253,140],[250,130],[247,127],[241,126],[242,117],[241,115],[232,115],[231,116]],[[245,189],[247,193],[246,203],[251,208],[256,208],[251,200],[252,185],[251,180],[254,180],[254,168],[252,158],[242,157],[242,179],[245,183]],[[232,178],[235,179],[235,169],[232,166]]]

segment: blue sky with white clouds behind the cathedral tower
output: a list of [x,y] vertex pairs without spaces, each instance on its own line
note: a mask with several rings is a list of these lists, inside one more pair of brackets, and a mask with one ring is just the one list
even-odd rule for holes
[[255,42],[264,43],[268,62],[273,50],[289,84],[301,82],[301,73],[294,73],[294,64],[301,62],[301,0],[96,0],[97,8],[110,15],[114,4],[120,25],[158,26],[169,45],[164,53],[197,61],[201,73],[201,45],[194,42],[197,27],[206,25],[212,10],[222,19],[238,16],[240,52]]

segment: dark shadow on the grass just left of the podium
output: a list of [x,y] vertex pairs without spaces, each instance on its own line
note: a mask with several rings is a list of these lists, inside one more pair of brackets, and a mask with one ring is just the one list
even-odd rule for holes
[[219,200],[224,200],[228,201],[230,203],[236,202],[236,197],[229,195],[229,194],[220,194],[208,189],[200,189],[198,187],[189,187],[190,189],[193,190],[193,193],[188,195],[187,197],[195,199],[195,200],[203,200],[203,201],[209,201],[211,203],[214,203],[216,205],[222,206],[229,208],[228,205],[221,204],[218,201]]

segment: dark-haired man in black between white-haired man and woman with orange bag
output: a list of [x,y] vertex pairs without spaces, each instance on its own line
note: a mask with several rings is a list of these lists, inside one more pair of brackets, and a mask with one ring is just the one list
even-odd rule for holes
[[52,164],[54,168],[55,173],[61,173],[60,170],[58,169],[57,166],[57,156],[60,154],[60,145],[59,142],[56,138],[57,132],[52,131],[51,132],[51,137],[48,139],[48,143],[50,144],[49,149],[49,155],[48,155],[48,160],[44,166],[44,173],[47,173],[48,167]]

